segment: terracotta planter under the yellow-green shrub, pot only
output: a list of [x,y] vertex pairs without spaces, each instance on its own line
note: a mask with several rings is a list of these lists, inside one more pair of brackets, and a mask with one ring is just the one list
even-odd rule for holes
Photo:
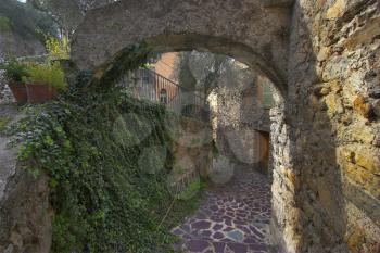
[[54,99],[56,89],[45,84],[26,84],[26,92],[29,103],[41,103]]

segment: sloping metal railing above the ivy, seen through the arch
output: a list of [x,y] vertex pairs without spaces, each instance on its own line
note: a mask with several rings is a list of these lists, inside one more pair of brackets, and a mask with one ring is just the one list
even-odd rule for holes
[[138,68],[128,77],[123,78],[122,85],[136,98],[164,104],[179,115],[199,121],[208,119],[208,104],[203,97],[152,69]]

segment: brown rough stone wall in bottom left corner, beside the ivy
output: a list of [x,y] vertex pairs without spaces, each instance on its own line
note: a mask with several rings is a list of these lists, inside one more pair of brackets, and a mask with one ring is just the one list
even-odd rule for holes
[[16,168],[0,201],[0,252],[49,253],[51,218],[48,178]]

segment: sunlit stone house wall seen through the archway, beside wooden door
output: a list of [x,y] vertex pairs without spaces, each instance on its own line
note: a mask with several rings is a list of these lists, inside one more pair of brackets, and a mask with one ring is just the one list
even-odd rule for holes
[[269,132],[270,122],[268,110],[259,102],[258,79],[252,73],[251,80],[244,84],[232,86],[221,80],[210,96],[214,140],[220,155],[215,166],[233,169],[242,165],[264,172],[257,130]]

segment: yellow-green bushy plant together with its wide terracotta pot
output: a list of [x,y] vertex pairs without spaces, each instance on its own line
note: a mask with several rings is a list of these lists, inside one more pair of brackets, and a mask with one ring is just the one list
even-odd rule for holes
[[29,64],[25,78],[29,103],[40,103],[56,97],[67,87],[61,65],[55,63]]

